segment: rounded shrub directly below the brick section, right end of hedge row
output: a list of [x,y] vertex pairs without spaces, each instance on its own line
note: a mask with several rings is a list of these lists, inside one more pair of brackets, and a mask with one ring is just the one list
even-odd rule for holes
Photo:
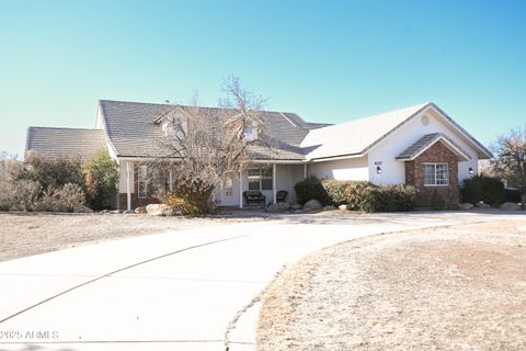
[[420,193],[414,186],[367,186],[362,192],[359,210],[365,212],[398,212],[416,208]]

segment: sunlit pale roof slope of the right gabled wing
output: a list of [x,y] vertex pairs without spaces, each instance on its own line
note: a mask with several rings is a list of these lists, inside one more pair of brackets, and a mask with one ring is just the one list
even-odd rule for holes
[[431,103],[311,131],[302,140],[307,159],[359,155]]

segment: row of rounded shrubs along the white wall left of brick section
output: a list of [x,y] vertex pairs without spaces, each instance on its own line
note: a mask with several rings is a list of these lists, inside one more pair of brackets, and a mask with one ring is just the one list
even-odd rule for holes
[[375,185],[366,181],[319,180],[309,177],[294,186],[300,204],[318,200],[323,205],[347,205],[365,212],[398,212],[415,210],[420,192],[408,185]]

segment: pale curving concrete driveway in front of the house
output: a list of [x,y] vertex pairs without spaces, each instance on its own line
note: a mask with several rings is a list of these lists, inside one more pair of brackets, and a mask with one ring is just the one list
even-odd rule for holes
[[294,215],[7,261],[0,350],[253,350],[258,296],[302,256],[367,235],[517,215]]

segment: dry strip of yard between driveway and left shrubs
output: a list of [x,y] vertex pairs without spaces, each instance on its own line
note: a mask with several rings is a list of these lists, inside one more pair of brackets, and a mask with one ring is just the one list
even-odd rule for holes
[[255,219],[262,220],[123,214],[0,213],[0,262],[102,240]]

